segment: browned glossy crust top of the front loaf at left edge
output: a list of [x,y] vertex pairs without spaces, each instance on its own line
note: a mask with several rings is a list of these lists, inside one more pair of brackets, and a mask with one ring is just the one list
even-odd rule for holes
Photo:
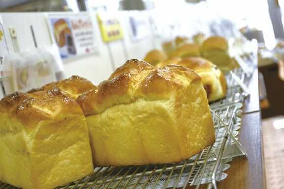
[[0,101],[0,113],[18,119],[26,127],[34,127],[42,120],[83,114],[74,100],[52,91],[9,94]]

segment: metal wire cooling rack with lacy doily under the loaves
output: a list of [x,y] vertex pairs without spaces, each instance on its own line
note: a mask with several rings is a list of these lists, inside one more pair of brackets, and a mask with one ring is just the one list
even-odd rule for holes
[[[233,73],[243,82],[240,69]],[[224,173],[233,157],[246,155],[237,140],[241,128],[243,100],[242,88],[231,75],[226,75],[228,94],[225,99],[210,104],[215,127],[216,142],[195,156],[175,164],[140,165],[126,167],[97,167],[94,173],[57,189],[165,189],[202,184],[217,189],[217,181],[227,177]],[[14,189],[0,184],[0,189]]]

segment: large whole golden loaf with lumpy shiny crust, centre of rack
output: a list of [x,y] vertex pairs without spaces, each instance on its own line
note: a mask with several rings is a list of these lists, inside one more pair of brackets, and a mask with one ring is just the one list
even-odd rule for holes
[[185,67],[128,60],[76,101],[97,166],[179,162],[215,141],[201,78]]

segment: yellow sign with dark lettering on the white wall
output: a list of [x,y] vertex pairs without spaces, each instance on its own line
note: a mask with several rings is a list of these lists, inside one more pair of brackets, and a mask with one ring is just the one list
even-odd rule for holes
[[101,35],[104,42],[114,41],[123,38],[123,30],[119,20],[109,12],[97,14]]

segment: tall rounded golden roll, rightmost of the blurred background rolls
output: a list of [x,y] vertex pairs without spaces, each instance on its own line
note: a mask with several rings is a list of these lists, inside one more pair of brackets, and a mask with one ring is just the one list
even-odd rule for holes
[[217,66],[230,64],[228,42],[220,36],[213,36],[205,40],[201,46],[202,56]]

